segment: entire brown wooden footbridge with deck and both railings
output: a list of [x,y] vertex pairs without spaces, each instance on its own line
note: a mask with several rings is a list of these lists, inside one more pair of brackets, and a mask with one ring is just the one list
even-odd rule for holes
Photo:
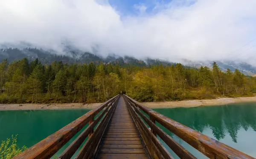
[[254,159],[143,106],[127,95],[116,95],[14,159],[49,159],[83,128],[58,159],[173,159],[167,146],[181,159],[196,159],[156,122],[211,159]]

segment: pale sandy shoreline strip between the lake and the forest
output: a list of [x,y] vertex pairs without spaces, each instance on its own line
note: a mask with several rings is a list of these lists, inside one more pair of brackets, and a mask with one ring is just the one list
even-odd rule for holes
[[[151,109],[154,108],[175,108],[175,107],[199,107],[224,105],[240,102],[256,102],[255,97],[217,98],[205,100],[184,100],[184,101],[160,101],[142,102]],[[64,104],[0,104],[0,110],[58,110],[58,109],[93,109],[101,103],[64,103]]]

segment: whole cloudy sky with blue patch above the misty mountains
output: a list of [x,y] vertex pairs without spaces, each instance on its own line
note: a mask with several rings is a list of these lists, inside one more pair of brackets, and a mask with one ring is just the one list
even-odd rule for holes
[[255,6],[256,0],[0,0],[0,43],[254,64]]

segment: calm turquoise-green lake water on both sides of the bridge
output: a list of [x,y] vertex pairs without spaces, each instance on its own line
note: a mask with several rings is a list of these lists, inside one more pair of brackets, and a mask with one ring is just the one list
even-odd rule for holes
[[[250,156],[256,157],[256,103],[154,110]],[[0,111],[0,141],[18,134],[17,144],[20,147],[23,145],[30,147],[88,111],[86,109]],[[186,142],[169,132],[169,130],[164,127],[161,128],[193,155],[198,158],[206,158]],[[73,139],[67,145],[72,141]],[[64,150],[64,148],[61,150]],[[172,150],[170,152],[175,158],[177,157]],[[58,154],[60,153],[58,152]]]

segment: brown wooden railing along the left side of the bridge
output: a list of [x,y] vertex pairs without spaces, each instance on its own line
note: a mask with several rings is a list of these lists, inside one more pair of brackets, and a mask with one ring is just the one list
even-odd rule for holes
[[[119,95],[111,98],[67,126],[48,136],[36,145],[15,156],[13,159],[49,159],[61,147],[63,147],[73,136],[76,135],[87,123],[88,127],[64,150],[58,159],[70,159],[80,145],[89,138],[79,151],[76,159],[92,158],[95,155],[102,134],[118,102]],[[99,114],[100,113],[100,114]],[[96,118],[95,116],[99,114]],[[94,119],[95,118],[95,119]],[[101,120],[102,119],[102,120]]]

